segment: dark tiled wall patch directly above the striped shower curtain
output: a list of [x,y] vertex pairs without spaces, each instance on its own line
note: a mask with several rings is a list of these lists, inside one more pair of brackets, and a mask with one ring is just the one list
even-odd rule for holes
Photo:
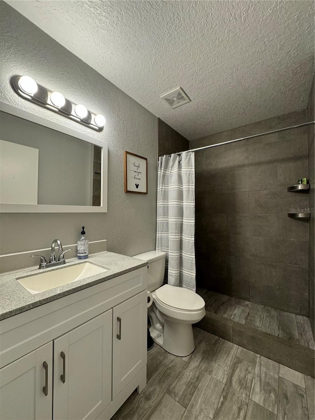
[[189,141],[168,124],[158,119],[158,156],[171,155],[189,149]]

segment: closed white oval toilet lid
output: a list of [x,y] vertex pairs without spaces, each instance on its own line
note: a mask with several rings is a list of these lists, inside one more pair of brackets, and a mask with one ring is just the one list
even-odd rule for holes
[[157,299],[164,305],[182,311],[199,311],[205,306],[205,301],[194,291],[164,285],[156,290]]

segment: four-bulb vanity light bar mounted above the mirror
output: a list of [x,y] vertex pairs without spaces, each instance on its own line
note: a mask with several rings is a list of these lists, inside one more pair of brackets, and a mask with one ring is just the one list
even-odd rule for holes
[[38,85],[30,76],[13,76],[10,80],[13,90],[24,99],[64,117],[70,118],[96,131],[101,131],[105,125],[105,117],[89,111],[84,105],[76,104],[66,99],[60,92],[53,92]]

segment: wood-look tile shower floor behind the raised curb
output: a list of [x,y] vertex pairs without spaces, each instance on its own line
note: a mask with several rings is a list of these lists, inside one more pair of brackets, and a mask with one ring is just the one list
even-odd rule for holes
[[309,318],[198,288],[206,310],[315,350]]

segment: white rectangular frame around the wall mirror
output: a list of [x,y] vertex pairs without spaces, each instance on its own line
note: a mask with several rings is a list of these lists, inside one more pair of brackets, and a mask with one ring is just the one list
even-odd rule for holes
[[[87,134],[74,129],[62,126],[54,121],[32,114],[15,106],[0,101],[0,111],[23,120],[31,121],[48,129],[59,131],[63,134],[78,138],[79,140],[95,144],[102,148],[101,163],[101,205],[100,206],[70,206],[54,204],[0,204],[0,213],[106,213],[107,212],[107,168],[108,168],[108,147],[101,140],[97,140]],[[1,139],[3,140],[3,139]]]

